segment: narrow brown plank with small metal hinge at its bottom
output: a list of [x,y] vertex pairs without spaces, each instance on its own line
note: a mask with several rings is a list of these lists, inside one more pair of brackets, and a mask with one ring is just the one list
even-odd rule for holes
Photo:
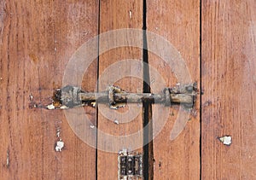
[[[142,29],[143,26],[143,1],[139,0],[111,0],[102,1],[100,5],[100,33],[116,30],[120,28],[138,28]],[[132,45],[130,42],[131,37],[112,37],[109,41],[119,41],[119,39],[126,39],[127,44]],[[141,37],[142,39],[143,37]],[[100,51],[102,44],[108,46],[108,43],[100,39]],[[137,60],[142,62],[142,49],[135,47],[122,47],[110,49],[99,57],[99,91],[106,90],[108,85],[118,85],[122,90],[127,92],[143,92],[143,64],[138,67],[133,67],[129,63],[118,62],[123,60]],[[125,65],[126,64],[126,65]],[[114,67],[117,66],[117,67]],[[114,67],[114,68],[111,68]],[[121,74],[137,74],[137,78],[122,77]],[[105,78],[103,78],[105,77]],[[117,78],[113,81],[113,78]],[[131,108],[135,113],[131,114]],[[103,111],[106,109],[106,111]],[[105,113],[104,113],[105,112]],[[130,112],[130,115],[129,113]],[[118,114],[117,114],[118,113]],[[132,115],[136,114],[132,118]],[[98,135],[98,155],[97,155],[97,178],[99,180],[113,180],[118,177],[118,151],[122,148],[132,148],[133,144],[141,143],[141,147],[137,149],[142,152],[143,136],[138,137],[131,141],[126,138],[124,141],[115,142],[112,139],[106,139],[105,134],[113,135],[113,139],[119,136],[129,136],[137,131],[142,130],[143,127],[143,112],[140,105],[126,105],[119,110],[109,109],[108,105],[99,105],[98,113],[98,130],[102,134]],[[117,120],[119,125],[114,124],[113,121]],[[128,121],[127,121],[128,120]],[[136,150],[136,149],[134,149]],[[112,151],[112,152],[108,152]]]

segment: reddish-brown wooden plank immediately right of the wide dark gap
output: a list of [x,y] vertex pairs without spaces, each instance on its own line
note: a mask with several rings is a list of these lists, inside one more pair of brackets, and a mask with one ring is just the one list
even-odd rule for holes
[[[192,81],[200,82],[200,1],[148,1],[147,26],[149,32],[159,34],[168,40],[182,55]],[[148,44],[160,44],[148,38]],[[148,45],[149,47],[149,45]],[[159,49],[159,55],[164,49]],[[172,57],[166,57],[167,59]],[[166,82],[166,87],[172,87],[181,79],[176,78],[178,61],[173,61],[171,67],[159,56],[149,53],[148,62],[151,67],[160,73]],[[183,68],[177,71],[182,72]],[[152,90],[160,90],[160,78],[153,71],[150,72]],[[154,92],[154,90],[153,90]],[[158,92],[159,93],[159,92]],[[199,179],[200,178],[200,97],[195,104],[197,115],[188,119],[183,131],[170,140],[170,134],[177,119],[178,107],[153,106],[154,133],[160,128],[157,121],[166,124],[159,134],[154,134],[154,179]],[[165,110],[164,110],[165,109]],[[164,119],[164,113],[167,119]],[[183,113],[180,110],[179,113]],[[162,113],[161,113],[162,112]],[[157,114],[158,113],[158,114]],[[155,117],[159,117],[155,119]],[[177,119],[178,120],[178,119]]]

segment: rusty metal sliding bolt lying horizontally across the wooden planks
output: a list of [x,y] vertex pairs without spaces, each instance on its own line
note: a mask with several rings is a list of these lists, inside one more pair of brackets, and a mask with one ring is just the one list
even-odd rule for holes
[[177,84],[173,88],[165,88],[160,94],[153,93],[128,93],[119,87],[110,86],[104,92],[86,92],[78,87],[67,85],[54,92],[53,103],[48,109],[65,109],[81,106],[95,107],[98,103],[108,103],[110,108],[117,109],[126,103],[162,103],[166,106],[183,104],[185,107],[193,107],[196,97],[196,83]]

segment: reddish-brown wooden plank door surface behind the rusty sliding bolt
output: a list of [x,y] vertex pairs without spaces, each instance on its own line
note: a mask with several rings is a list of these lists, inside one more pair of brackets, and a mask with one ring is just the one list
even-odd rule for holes
[[[117,154],[80,140],[63,111],[29,106],[50,101],[71,55],[88,39],[114,29],[146,27],[177,48],[203,92],[196,115],[174,141],[169,136],[177,110],[171,107],[168,123],[149,144],[146,176],[256,179],[254,0],[0,0],[0,179],[117,179]],[[97,74],[123,59],[147,58],[166,77],[166,86],[177,83],[164,61],[143,53],[119,48],[100,55],[84,74],[83,88],[95,90]],[[143,78],[143,69],[137,74]],[[136,78],[116,84],[143,92]],[[143,120],[151,121],[143,107],[136,122],[120,126],[92,107],[84,111],[93,125],[109,133],[119,134],[122,128],[129,133]],[[57,129],[65,142],[61,152],[55,152]],[[230,146],[218,141],[225,135],[232,136]]]

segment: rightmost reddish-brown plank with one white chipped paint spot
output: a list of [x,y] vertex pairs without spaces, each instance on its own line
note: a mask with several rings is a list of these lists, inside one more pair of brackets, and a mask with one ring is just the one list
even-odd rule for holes
[[[256,3],[202,1],[202,179],[255,179]],[[225,146],[219,136],[230,135]]]

